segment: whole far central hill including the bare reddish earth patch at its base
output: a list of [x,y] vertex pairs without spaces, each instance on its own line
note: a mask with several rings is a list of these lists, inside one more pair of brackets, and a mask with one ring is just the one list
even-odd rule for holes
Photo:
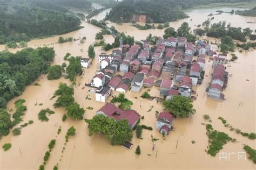
[[[111,22],[125,23],[147,21],[165,23],[186,18],[180,2],[175,1],[124,1],[114,6],[106,19]],[[143,18],[143,20],[140,20]]]

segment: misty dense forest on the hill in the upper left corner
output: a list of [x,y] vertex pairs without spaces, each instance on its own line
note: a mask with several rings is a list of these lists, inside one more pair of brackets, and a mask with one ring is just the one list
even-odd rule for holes
[[80,29],[79,18],[64,13],[66,10],[57,5],[51,6],[42,2],[34,2],[32,5],[2,2],[0,6],[0,44],[29,41],[31,38]]

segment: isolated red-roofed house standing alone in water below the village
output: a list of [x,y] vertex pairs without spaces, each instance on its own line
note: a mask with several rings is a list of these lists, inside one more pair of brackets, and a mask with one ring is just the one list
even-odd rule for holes
[[173,118],[170,112],[160,112],[157,118],[156,129],[159,130],[161,134],[169,134],[172,129]]

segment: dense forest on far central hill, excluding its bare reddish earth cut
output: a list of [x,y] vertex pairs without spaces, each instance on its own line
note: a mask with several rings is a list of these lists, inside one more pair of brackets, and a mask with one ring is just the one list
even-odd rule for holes
[[248,1],[250,0],[126,0],[113,6],[106,19],[116,23],[137,22],[134,16],[146,15],[148,23],[165,23],[188,17],[183,10],[194,6]]

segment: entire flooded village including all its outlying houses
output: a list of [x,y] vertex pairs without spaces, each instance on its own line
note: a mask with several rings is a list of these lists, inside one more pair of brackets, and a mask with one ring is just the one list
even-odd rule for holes
[[[200,86],[205,76],[205,55],[212,60],[212,81],[206,91],[208,97],[214,100],[225,100],[222,93],[227,86],[228,72],[225,71],[226,54],[211,51],[211,45],[199,40],[197,45],[187,42],[185,37],[158,38],[156,48],[151,51],[151,45],[142,40],[143,47],[138,45],[123,45],[112,54],[102,53],[99,58],[99,71],[86,86],[95,87],[95,101],[106,103],[96,114],[103,114],[116,119],[126,119],[131,128],[137,125],[140,116],[135,110],[120,110],[114,104],[107,103],[112,91],[126,93],[131,90],[138,93],[143,88],[159,87],[159,96],[150,96],[149,100],[171,100],[180,95],[197,99],[193,86]],[[82,59],[84,68],[90,67],[90,59]],[[156,120],[156,129],[160,133],[169,134],[172,129],[173,115],[171,112],[160,112]]]

